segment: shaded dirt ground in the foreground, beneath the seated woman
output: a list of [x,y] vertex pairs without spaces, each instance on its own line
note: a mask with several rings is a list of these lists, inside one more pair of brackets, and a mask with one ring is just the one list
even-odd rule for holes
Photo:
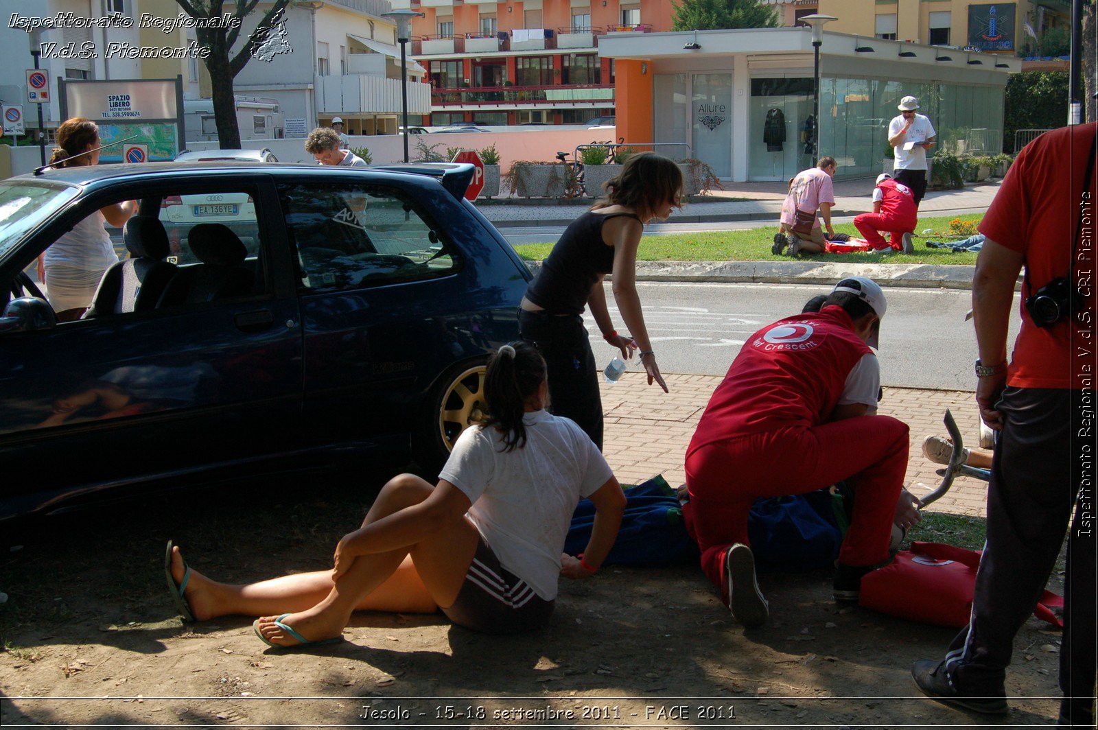
[[[356,615],[346,642],[268,649],[250,619],[183,625],[168,538],[197,570],[247,582],[330,566],[378,487],[284,480],[54,518],[0,557],[0,723],[127,727],[919,727],[1046,725],[1060,633],[1031,619],[993,721],[915,689],[950,629],[839,610],[827,571],[764,574],[771,620],[744,631],[696,565],[562,580],[539,632],[493,638],[441,615]],[[302,497],[301,495],[323,495]],[[1056,581],[1052,586],[1056,589]]]

